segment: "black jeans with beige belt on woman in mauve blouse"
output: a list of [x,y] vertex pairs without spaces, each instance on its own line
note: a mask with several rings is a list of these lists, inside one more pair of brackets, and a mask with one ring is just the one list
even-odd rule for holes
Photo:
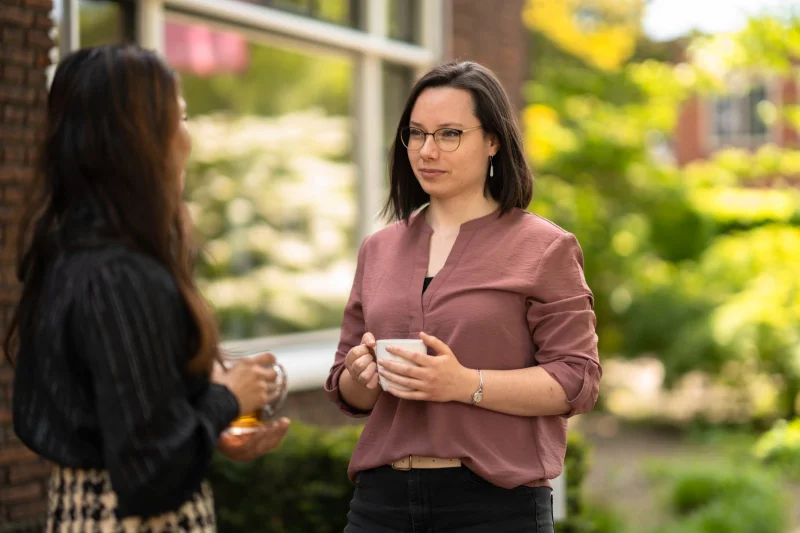
[[466,467],[360,472],[344,533],[554,533],[549,487],[503,489]]

